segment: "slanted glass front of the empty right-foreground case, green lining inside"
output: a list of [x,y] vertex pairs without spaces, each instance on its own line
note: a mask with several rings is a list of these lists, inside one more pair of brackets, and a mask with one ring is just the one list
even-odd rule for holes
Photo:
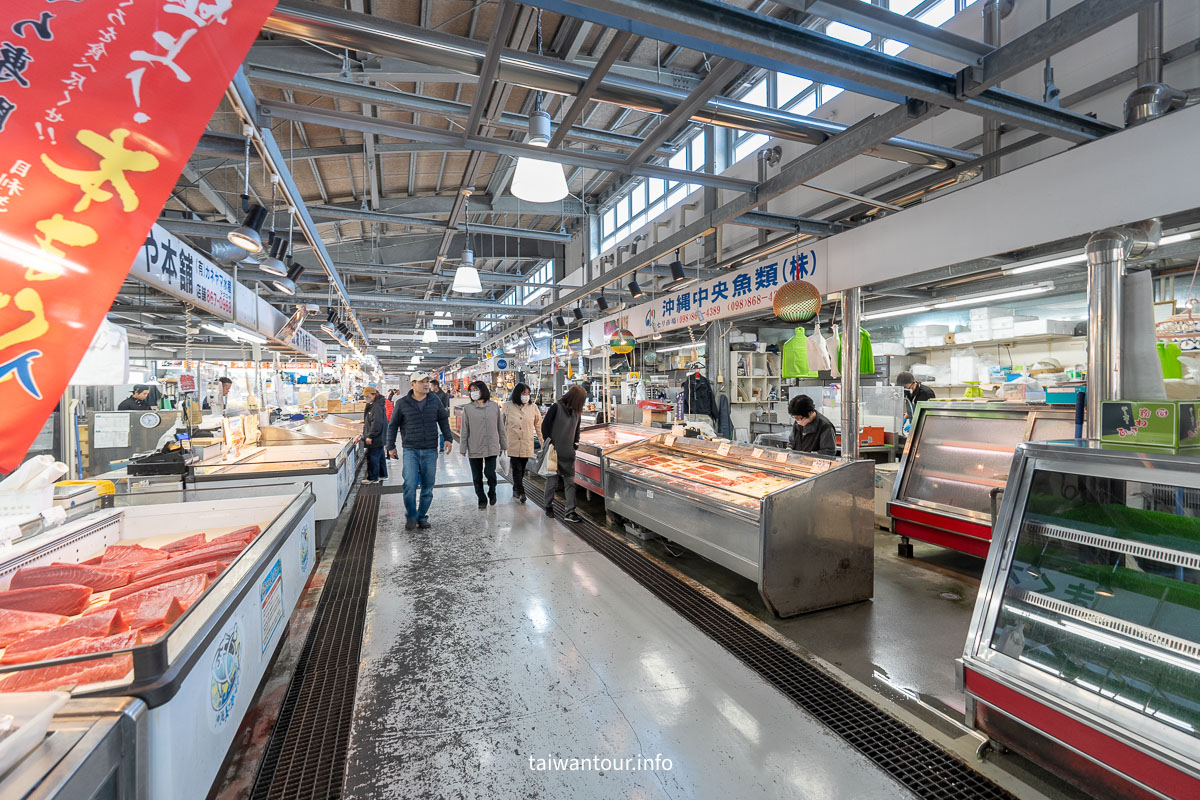
[[1200,738],[1200,489],[1037,470],[991,648]]

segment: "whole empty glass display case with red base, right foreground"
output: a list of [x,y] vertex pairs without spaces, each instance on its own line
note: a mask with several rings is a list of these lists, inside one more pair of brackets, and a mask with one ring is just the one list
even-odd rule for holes
[[1200,457],[1022,444],[967,721],[1093,796],[1200,798]]

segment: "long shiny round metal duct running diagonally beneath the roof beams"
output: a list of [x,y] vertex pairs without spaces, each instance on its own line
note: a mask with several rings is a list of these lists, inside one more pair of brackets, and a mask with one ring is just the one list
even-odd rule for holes
[[[464,74],[482,72],[487,43],[368,14],[332,8],[307,0],[281,2],[263,30],[331,47],[364,50],[406,59]],[[558,59],[517,50],[500,50],[496,79],[558,95],[577,95],[590,71]],[[688,100],[688,92],[648,80],[608,73],[593,100],[640,112],[667,114]],[[760,108],[726,97],[714,97],[691,116],[696,122],[756,131],[773,137],[821,144],[845,131],[847,125]],[[866,155],[901,163],[949,169],[974,158],[973,154],[914,142],[888,139]]]

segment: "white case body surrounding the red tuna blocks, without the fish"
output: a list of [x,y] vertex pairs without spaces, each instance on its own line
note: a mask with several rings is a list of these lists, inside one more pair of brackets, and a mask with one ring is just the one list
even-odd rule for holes
[[[173,621],[110,650],[0,663],[0,691],[50,681],[77,698],[142,700],[149,708],[138,742],[143,796],[203,800],[316,567],[313,507],[307,485],[134,492],[14,542],[0,557],[0,588],[20,567],[80,564],[113,545],[158,547],[198,531],[260,529]],[[106,597],[94,593],[91,607]],[[71,666],[85,661],[104,674]],[[121,667],[124,675],[114,672]]]

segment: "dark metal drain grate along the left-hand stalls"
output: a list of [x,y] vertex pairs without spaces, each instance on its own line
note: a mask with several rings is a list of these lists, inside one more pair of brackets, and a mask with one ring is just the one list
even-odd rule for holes
[[379,495],[360,492],[251,800],[332,800],[342,795],[378,522]]

